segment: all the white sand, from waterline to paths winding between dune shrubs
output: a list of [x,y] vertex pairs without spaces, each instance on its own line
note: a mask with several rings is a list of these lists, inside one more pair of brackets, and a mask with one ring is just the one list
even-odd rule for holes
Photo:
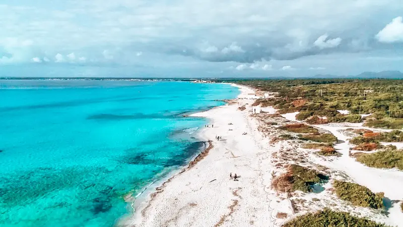
[[[331,192],[331,181],[323,186],[326,189],[323,192],[296,192],[290,198],[285,193],[272,190],[272,176],[278,176],[285,170],[281,165],[275,166],[276,162],[280,162],[275,160],[278,157],[276,153],[283,152],[287,155],[285,151],[290,150],[300,152],[298,155],[305,155],[305,165],[326,166],[335,178],[344,176],[344,179],[364,185],[374,192],[385,192],[385,196],[392,200],[403,199],[400,190],[403,188],[403,172],[370,168],[356,162],[348,156],[350,145],[347,142],[335,146],[343,154],[336,160],[315,156],[314,152],[300,148],[293,141],[271,143],[277,130],[266,129],[262,133],[259,128],[262,123],[258,118],[250,116],[250,105],[254,100],[246,97],[253,90],[233,86],[239,87],[242,92],[236,100],[192,115],[210,119],[210,127],[198,130],[201,140],[212,141],[209,153],[204,154],[204,158],[196,164],[170,178],[156,192],[149,193],[146,201],[137,203],[135,216],[126,221],[125,226],[281,226],[296,215],[324,207],[347,211],[377,222],[403,226],[403,221],[400,221],[403,220],[403,213],[399,210],[399,203],[388,210],[388,216],[378,210],[352,206]],[[239,110],[240,106],[245,106],[246,109]],[[273,107],[262,110],[266,112],[263,115],[275,113]],[[288,121],[295,121],[296,114],[289,113],[283,117]],[[284,123],[286,119],[280,122]],[[349,139],[338,131],[346,129],[346,126],[336,124],[315,127],[331,132],[339,140]],[[217,141],[216,136],[221,136],[222,140]],[[293,160],[289,163],[296,163]],[[240,176],[238,181],[230,180],[230,173]],[[302,201],[295,205],[299,206],[299,212],[294,212],[291,200]],[[280,212],[287,214],[287,217],[277,217]]]

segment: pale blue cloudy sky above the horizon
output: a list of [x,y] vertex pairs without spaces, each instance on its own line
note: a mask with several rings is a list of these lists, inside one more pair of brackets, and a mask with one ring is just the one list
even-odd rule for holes
[[0,77],[403,72],[403,0],[2,0]]

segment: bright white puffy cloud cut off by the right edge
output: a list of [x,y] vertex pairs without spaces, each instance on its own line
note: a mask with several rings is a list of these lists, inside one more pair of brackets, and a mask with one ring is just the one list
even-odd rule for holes
[[396,17],[375,36],[379,42],[403,42],[403,18]]

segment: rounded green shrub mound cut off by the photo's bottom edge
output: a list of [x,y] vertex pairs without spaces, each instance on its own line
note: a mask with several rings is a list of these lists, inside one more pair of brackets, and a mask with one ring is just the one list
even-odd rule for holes
[[331,227],[388,227],[374,221],[355,217],[347,212],[336,212],[328,208],[316,213],[307,213],[298,216],[285,224],[283,227],[307,227],[307,226],[331,226]]

